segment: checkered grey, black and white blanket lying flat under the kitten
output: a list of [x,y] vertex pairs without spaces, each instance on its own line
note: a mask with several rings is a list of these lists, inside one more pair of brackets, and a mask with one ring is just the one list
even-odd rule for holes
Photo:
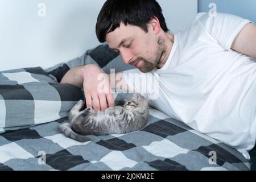
[[[125,135],[64,137],[64,119],[0,135],[0,170],[249,170],[240,152],[150,109],[147,125]],[[214,159],[214,155],[216,158]],[[216,162],[216,164],[214,164]]]

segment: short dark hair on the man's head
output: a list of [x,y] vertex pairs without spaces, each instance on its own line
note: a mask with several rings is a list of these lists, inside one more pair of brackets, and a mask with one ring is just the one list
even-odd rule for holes
[[121,22],[125,26],[138,26],[148,32],[147,25],[155,17],[163,31],[167,32],[162,9],[155,0],[107,0],[98,15],[96,35],[101,43],[105,42],[106,34],[120,27]]

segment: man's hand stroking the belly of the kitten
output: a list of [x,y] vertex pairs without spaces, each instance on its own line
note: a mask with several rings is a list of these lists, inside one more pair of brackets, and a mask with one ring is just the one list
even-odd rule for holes
[[114,106],[114,97],[107,74],[96,65],[86,65],[82,68],[82,77],[87,107],[92,107],[92,102],[96,111],[105,111],[108,107]]

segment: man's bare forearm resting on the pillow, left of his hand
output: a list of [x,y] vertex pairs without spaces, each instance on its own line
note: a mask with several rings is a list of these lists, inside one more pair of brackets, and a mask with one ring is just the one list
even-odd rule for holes
[[84,77],[82,76],[82,69],[85,66],[75,67],[70,69],[60,81],[61,84],[72,84],[79,88],[83,88]]

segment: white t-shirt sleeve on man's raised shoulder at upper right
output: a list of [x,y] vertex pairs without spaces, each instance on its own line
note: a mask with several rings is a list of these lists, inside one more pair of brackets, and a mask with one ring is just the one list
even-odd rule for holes
[[199,13],[196,16],[196,21],[227,50],[230,50],[234,39],[242,28],[251,22],[240,16],[225,13],[217,13],[216,16]]

